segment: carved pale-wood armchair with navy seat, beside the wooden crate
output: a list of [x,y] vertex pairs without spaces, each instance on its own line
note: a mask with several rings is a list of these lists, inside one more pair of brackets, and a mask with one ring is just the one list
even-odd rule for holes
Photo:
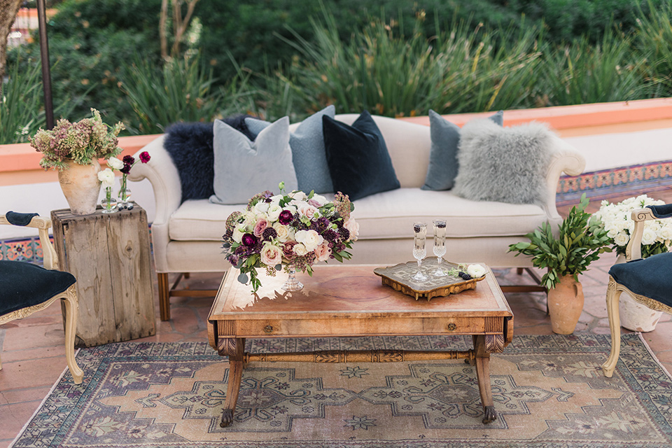
[[56,251],[49,241],[51,221],[38,214],[9,211],[0,216],[0,224],[38,229],[44,260],[44,267],[23,261],[0,260],[0,325],[45,309],[57,299],[63,300],[66,360],[74,382],[80,384],[84,373],[75,360],[78,312],[76,279],[69,272],[58,270]]

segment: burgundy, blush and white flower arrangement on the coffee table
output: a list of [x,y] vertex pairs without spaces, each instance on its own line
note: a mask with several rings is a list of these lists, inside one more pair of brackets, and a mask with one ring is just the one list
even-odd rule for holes
[[284,267],[289,279],[283,288],[299,290],[297,270],[312,274],[315,262],[351,258],[348,249],[359,233],[353,209],[342,193],[328,202],[312,191],[285,193],[280,183],[279,195],[270,191],[254,195],[245,211],[228,217],[223,236],[226,259],[240,269],[238,281],[251,282],[253,292],[261,286],[257,268],[274,276]]

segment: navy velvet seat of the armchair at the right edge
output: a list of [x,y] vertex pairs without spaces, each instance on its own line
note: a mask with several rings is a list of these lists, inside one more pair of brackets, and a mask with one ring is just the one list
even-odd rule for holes
[[672,307],[671,252],[613,265],[609,275],[633,293]]

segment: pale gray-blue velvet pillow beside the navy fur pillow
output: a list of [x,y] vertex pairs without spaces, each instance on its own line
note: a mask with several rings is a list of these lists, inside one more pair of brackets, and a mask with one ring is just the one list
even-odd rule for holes
[[278,184],[288,191],[297,188],[289,148],[289,118],[262,130],[254,141],[221,120],[214,124],[214,204],[247,204],[265,190],[278,193]]

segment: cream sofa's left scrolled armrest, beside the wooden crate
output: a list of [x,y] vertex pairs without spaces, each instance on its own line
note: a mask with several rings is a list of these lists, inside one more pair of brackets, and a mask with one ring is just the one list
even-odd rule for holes
[[143,151],[147,151],[151,159],[147,163],[135,164],[128,174],[130,181],[148,179],[154,190],[156,214],[152,223],[152,242],[157,272],[167,272],[168,221],[182,201],[180,174],[169,153],[163,148],[164,138],[162,135],[138,151],[134,155],[136,160]]

